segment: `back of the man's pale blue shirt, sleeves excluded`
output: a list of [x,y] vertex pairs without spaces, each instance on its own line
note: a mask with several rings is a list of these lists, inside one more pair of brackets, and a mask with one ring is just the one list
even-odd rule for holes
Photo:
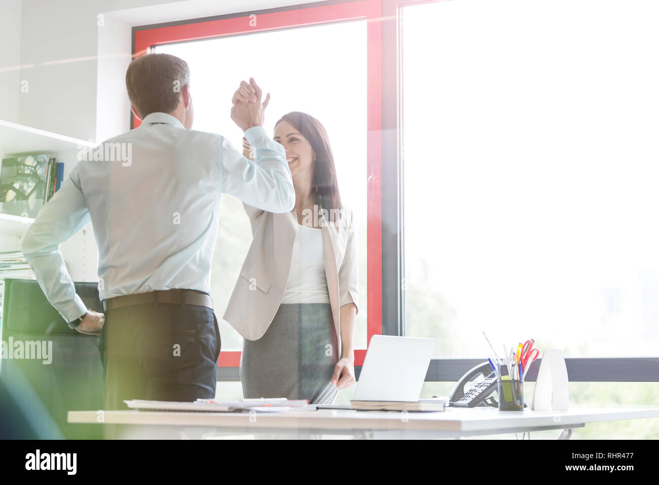
[[[71,178],[84,194],[99,248],[101,299],[170,288],[208,292],[222,143],[219,135],[152,113],[100,145],[113,160],[76,166]],[[115,156],[120,150],[123,156]]]

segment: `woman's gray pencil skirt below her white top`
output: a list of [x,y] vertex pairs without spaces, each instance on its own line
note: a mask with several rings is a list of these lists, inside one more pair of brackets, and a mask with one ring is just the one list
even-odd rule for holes
[[243,340],[241,382],[245,399],[286,397],[332,403],[337,336],[331,306],[281,304],[258,340]]

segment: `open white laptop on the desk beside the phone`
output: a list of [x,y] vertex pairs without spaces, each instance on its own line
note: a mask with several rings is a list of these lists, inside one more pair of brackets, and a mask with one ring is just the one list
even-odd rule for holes
[[[353,401],[419,403],[435,339],[374,335],[366,351]],[[318,404],[318,409],[350,409],[351,404]],[[353,406],[354,408],[355,406]]]

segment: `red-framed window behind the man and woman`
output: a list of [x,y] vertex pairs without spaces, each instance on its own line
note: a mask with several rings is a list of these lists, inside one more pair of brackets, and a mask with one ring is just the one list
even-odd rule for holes
[[[266,129],[271,133],[275,121],[291,111],[310,113],[324,124],[341,200],[357,220],[360,310],[355,348],[362,349],[355,352],[358,365],[368,337],[382,329],[380,200],[369,197],[369,191],[380,190],[372,181],[367,183],[380,164],[379,146],[374,148],[374,137],[369,135],[380,133],[379,64],[368,61],[369,52],[379,46],[379,32],[377,22],[366,20],[377,16],[378,5],[371,0],[311,5],[134,29],[136,53],[166,52],[188,62],[194,129],[220,133],[240,148],[243,134],[229,118],[229,110],[231,95],[241,79],[249,77],[272,95],[266,110]],[[223,195],[211,290],[218,317],[231,296],[250,242],[241,202]],[[219,365],[235,368],[240,362],[241,337],[225,321],[219,323],[223,337]],[[237,372],[218,378],[235,379]]]

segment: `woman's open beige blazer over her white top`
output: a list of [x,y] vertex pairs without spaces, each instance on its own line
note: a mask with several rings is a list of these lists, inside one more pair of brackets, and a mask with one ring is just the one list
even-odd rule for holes
[[[258,340],[281,304],[299,224],[295,209],[273,214],[246,204],[244,208],[254,238],[223,318],[245,339]],[[330,216],[329,222],[319,212],[329,302],[339,342],[337,355],[341,356],[339,308],[352,302],[358,311],[357,234],[351,211],[342,211],[340,218]]]

